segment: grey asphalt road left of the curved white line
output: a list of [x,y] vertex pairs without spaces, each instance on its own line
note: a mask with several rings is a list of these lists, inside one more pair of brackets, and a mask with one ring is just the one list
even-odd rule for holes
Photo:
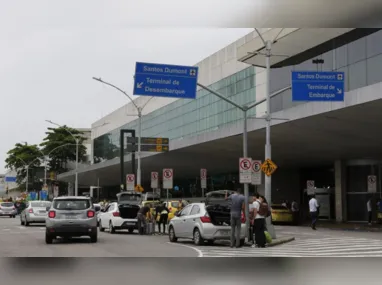
[[107,231],[97,243],[88,238],[55,240],[45,244],[43,224],[21,226],[19,217],[0,218],[0,257],[197,257],[188,247],[169,244],[167,236],[140,236],[137,233]]

